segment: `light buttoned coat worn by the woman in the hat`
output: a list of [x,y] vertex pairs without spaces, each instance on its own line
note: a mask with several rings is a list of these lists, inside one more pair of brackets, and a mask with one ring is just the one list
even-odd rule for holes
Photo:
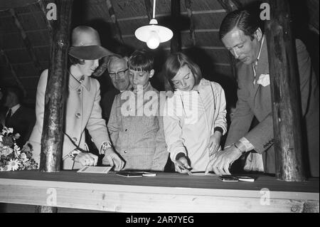
[[[36,161],[40,160],[41,134],[43,128],[43,113],[45,103],[48,70],[43,71],[38,82],[36,97],[36,125],[29,142],[33,145],[33,154]],[[65,133],[75,144],[82,149],[87,149],[85,144],[85,128],[90,133],[97,149],[103,142],[110,141],[105,120],[102,119],[100,107],[100,84],[97,80],[85,77],[78,83],[72,76],[69,77],[68,98],[65,103]],[[75,145],[67,136],[63,139],[63,157],[75,149]],[[68,158],[63,162],[63,169],[78,169],[81,167]]]

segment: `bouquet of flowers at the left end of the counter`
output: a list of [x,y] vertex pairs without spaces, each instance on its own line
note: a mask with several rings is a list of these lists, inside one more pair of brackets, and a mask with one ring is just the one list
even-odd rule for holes
[[32,158],[30,144],[18,147],[16,139],[20,134],[14,134],[12,128],[4,127],[0,133],[0,171],[15,171],[25,169],[37,169],[38,164]]

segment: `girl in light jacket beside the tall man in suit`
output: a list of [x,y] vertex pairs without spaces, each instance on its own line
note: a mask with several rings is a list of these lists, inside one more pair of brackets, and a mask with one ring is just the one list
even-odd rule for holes
[[166,92],[173,93],[164,107],[171,160],[181,173],[185,169],[205,171],[227,130],[224,90],[203,79],[198,65],[183,53],[171,54],[164,70]]

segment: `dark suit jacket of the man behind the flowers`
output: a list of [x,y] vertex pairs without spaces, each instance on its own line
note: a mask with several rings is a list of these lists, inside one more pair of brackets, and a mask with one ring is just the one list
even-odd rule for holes
[[[4,122],[6,111],[2,112],[1,118]],[[31,110],[27,107],[21,107],[14,112],[13,115],[9,118],[9,122],[6,127],[12,127],[14,133],[21,135],[19,139],[16,140],[16,143],[19,147],[23,147],[24,144],[28,141],[30,134],[32,132],[33,126],[36,123],[36,114],[34,110]]]

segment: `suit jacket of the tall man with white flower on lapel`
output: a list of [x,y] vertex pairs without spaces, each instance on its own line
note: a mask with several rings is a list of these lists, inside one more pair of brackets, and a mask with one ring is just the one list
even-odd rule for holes
[[[302,101],[302,127],[306,133],[303,152],[309,157],[311,176],[319,176],[319,85],[311,68],[311,59],[304,43],[296,40],[299,85]],[[231,122],[226,145],[245,137],[262,154],[267,173],[275,172],[273,149],[273,120],[270,85],[262,86],[257,80],[262,74],[269,74],[267,42],[262,45],[254,84],[252,65],[238,64],[238,102]],[[260,122],[250,132],[253,116]]]

